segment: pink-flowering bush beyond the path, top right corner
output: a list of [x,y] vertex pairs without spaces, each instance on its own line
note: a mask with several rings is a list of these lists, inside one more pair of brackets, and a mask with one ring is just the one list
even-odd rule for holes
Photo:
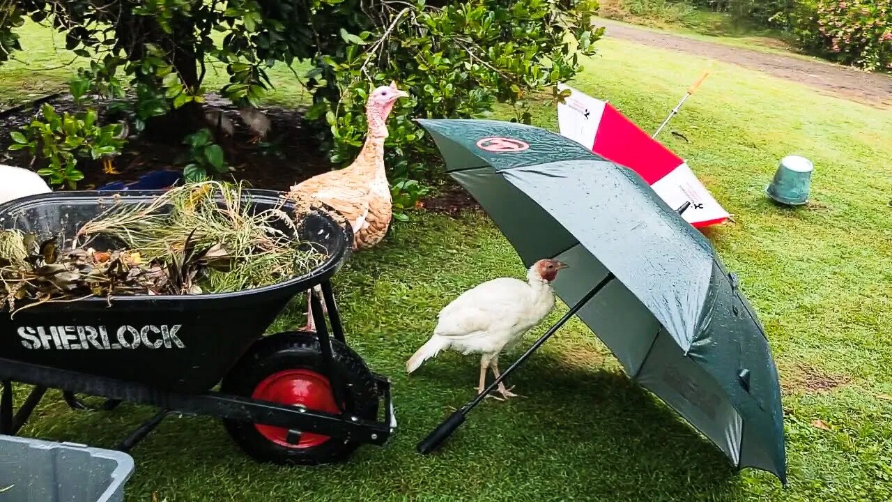
[[805,49],[864,70],[892,70],[892,0],[800,0],[787,21]]

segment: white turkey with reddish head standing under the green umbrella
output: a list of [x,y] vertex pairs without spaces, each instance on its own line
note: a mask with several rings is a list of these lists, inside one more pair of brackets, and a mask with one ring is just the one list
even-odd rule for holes
[[[499,378],[499,355],[514,347],[524,333],[541,322],[555,305],[551,282],[566,264],[540,260],[530,267],[527,281],[509,277],[488,280],[462,293],[437,315],[434,336],[406,363],[406,371],[418,369],[441,350],[481,354],[478,393],[486,388],[486,370]],[[499,384],[503,397],[516,394]]]

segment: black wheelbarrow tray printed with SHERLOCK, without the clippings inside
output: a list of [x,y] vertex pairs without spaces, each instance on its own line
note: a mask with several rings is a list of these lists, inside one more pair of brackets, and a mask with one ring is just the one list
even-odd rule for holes
[[[26,197],[0,206],[0,228],[34,232],[40,238],[62,232],[70,238],[112,204],[146,204],[163,193],[72,191]],[[282,205],[280,194],[268,190],[246,190],[246,200],[255,212]],[[327,216],[310,214],[300,236],[327,255],[323,264],[300,277],[232,293],[91,297],[34,305],[12,316],[4,312],[0,354],[6,360],[153,389],[211,389],[294,295],[330,279],[350,254],[349,230]]]

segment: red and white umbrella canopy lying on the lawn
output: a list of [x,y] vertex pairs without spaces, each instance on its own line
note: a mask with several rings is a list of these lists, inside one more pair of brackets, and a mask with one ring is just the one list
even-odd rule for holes
[[564,84],[559,88],[572,92],[563,104],[558,104],[561,135],[637,172],[673,209],[690,202],[681,217],[691,225],[706,227],[728,219],[729,213],[715,201],[688,163],[672,150],[650,138],[607,102]]

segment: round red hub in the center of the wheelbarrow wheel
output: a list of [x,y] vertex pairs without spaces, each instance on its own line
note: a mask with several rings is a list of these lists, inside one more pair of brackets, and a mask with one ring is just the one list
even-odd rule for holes
[[[280,405],[301,405],[311,410],[338,412],[331,383],[321,373],[312,370],[273,373],[258,384],[251,397]],[[288,430],[285,428],[260,424],[254,424],[254,427],[264,438],[285,448],[313,448],[331,439],[331,436],[304,432],[300,441],[290,443],[287,440]]]

